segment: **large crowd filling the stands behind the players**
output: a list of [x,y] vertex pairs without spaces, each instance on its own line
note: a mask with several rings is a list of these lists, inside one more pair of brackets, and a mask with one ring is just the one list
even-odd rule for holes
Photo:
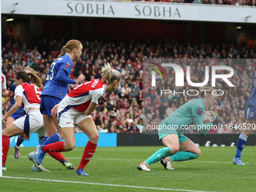
[[[7,88],[14,81],[14,74],[31,66],[39,72],[38,75],[45,82],[50,65],[59,53],[61,47],[70,38],[38,38],[32,49],[27,47],[22,38],[8,37],[2,41],[2,73],[7,79]],[[173,70],[165,68],[169,81],[157,81],[155,89],[145,89],[143,78],[151,75],[143,71],[145,59],[169,59],[183,67],[191,66],[191,75],[204,81],[204,66],[226,65],[232,66],[235,75],[230,80],[236,87],[227,87],[224,82],[218,81],[217,87],[224,90],[224,95],[218,97],[218,105],[215,110],[220,115],[220,126],[212,133],[239,133],[240,130],[230,129],[230,123],[243,123],[243,113],[247,102],[251,80],[255,72],[256,41],[241,41],[241,44],[189,44],[178,43],[167,38],[164,43],[156,40],[143,41],[109,41],[107,39],[81,39],[84,46],[81,58],[73,63],[71,78],[76,78],[83,73],[86,81],[93,78],[101,78],[101,69],[105,63],[109,63],[113,69],[123,74],[123,80],[116,92],[107,93],[105,100],[96,108],[92,117],[96,122],[99,133],[154,133],[143,126],[143,121],[153,125],[159,124],[176,108],[183,105],[190,96],[165,95],[160,96],[160,89],[166,87],[169,90],[178,90],[174,86]],[[221,58],[223,58],[221,60]],[[236,60],[230,59],[236,58]],[[220,72],[224,73],[224,72]],[[78,84],[70,85],[72,90]],[[187,84],[185,90],[189,89]],[[146,100],[143,101],[143,98]],[[5,114],[9,104],[3,108]],[[194,130],[186,130],[194,133]]]

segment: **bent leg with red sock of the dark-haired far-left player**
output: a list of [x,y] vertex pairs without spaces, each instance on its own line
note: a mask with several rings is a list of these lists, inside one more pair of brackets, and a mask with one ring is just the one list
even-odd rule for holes
[[11,123],[5,130],[2,130],[2,166],[5,166],[5,162],[7,159],[9,147],[10,147],[10,137],[18,136],[24,134],[23,130],[21,130],[14,123]]

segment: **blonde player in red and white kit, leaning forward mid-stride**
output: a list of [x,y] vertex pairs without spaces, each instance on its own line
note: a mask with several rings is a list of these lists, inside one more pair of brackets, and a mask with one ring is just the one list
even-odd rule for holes
[[71,151],[75,148],[74,125],[77,125],[87,136],[87,142],[84,148],[84,154],[76,171],[76,175],[88,175],[84,172],[84,166],[93,157],[96,151],[99,133],[96,129],[90,114],[95,110],[98,102],[105,96],[106,91],[115,91],[120,85],[122,75],[107,64],[102,69],[102,80],[93,79],[87,83],[81,84],[72,90],[59,105],[53,108],[53,115],[57,113],[59,127],[62,130],[65,142],[56,142],[50,145],[41,145],[35,154],[34,164],[38,168],[47,151],[61,152]]

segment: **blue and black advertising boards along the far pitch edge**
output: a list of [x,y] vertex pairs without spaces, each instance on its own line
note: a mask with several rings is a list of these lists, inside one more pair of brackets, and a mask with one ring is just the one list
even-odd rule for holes
[[[200,146],[236,146],[239,134],[223,133],[208,134],[204,137],[198,134],[184,134],[194,143]],[[75,133],[76,147],[84,147],[88,138],[84,133]],[[17,142],[17,136],[12,137],[10,146],[14,147]],[[256,134],[249,136],[246,145],[255,146]],[[23,147],[36,147],[38,145],[38,135],[33,133],[30,136],[30,142],[23,142]],[[117,147],[117,146],[163,146],[158,140],[157,134],[139,134],[139,133],[99,133],[98,147]]]

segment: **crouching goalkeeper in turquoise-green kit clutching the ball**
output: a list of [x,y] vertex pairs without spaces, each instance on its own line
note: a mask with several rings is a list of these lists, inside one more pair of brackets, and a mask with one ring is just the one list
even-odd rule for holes
[[[198,82],[195,77],[192,77],[191,81]],[[193,89],[202,92],[201,98],[186,102],[160,123],[158,135],[166,148],[161,148],[147,160],[140,163],[137,169],[151,171],[148,166],[157,161],[160,161],[166,169],[173,169],[172,161],[193,160],[200,156],[200,149],[182,132],[185,126],[194,123],[197,132],[201,136],[205,136],[211,127],[218,123],[218,114],[215,111],[210,111],[212,122],[203,123],[203,111],[217,104],[218,96],[212,95],[212,90],[214,90],[212,87],[193,87]]]

